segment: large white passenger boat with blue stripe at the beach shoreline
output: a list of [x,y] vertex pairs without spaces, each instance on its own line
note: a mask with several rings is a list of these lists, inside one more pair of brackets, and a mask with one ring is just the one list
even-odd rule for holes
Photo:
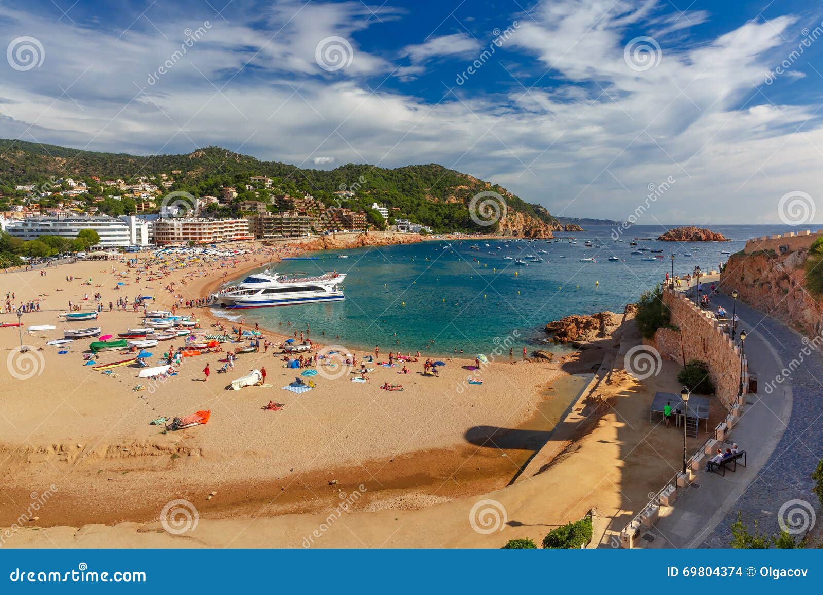
[[236,286],[223,288],[214,297],[218,303],[232,309],[337,302],[344,299],[340,284],[345,278],[346,274],[342,272],[327,272],[319,277],[258,272]]

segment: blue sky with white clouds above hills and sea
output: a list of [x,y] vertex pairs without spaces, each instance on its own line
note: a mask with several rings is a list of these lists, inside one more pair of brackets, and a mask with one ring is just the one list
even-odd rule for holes
[[0,3],[0,137],[436,162],[649,225],[823,221],[816,3],[72,1]]

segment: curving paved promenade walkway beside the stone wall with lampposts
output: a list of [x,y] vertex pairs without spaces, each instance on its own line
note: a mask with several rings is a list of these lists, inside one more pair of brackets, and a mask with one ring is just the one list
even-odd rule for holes
[[[732,312],[732,299],[715,295]],[[816,393],[821,389],[821,356],[812,353],[783,383],[774,379],[806,344],[783,323],[737,302],[741,328],[746,330],[746,356],[759,381],[757,394],[746,399],[742,418],[729,442],[748,453],[748,467],[726,476],[701,471],[677,500],[672,514],[653,529],[651,547],[728,547],[738,511],[753,529],[779,532],[778,518],[789,510],[814,510],[810,474],[823,458],[823,424]],[[771,383],[770,390],[766,385]],[[725,448],[725,445],[724,445]],[[787,504],[788,503],[788,504]],[[646,544],[644,544],[646,545]]]

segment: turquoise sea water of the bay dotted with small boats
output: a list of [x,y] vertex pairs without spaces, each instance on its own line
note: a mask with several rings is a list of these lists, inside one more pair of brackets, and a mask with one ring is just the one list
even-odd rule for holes
[[[697,266],[708,272],[728,258],[721,251],[737,252],[746,239],[797,231],[788,225],[709,228],[732,241],[676,244],[647,240],[631,248],[631,239],[656,238],[664,230],[660,225],[635,225],[619,236],[621,241],[612,239],[610,227],[588,227],[582,232],[557,233],[560,242],[461,239],[447,243],[440,239],[308,254],[318,259],[286,261],[277,265],[277,271],[345,272],[345,301],[221,314],[284,332],[305,330],[309,325],[314,340],[351,348],[374,349],[376,343],[381,351],[420,349],[440,356],[462,349],[473,357],[511,344],[518,356],[523,346],[531,351],[542,345],[546,337],[542,328],[552,320],[602,310],[622,312],[625,304],[671,272],[672,252],[676,253],[675,274],[684,275]],[[577,244],[569,243],[571,237]],[[600,247],[585,247],[587,239]],[[471,249],[472,245],[479,245],[480,250]],[[649,262],[630,254],[642,245],[663,249],[665,258]],[[337,258],[341,253],[348,258]],[[514,260],[503,260],[504,256],[525,260],[528,265],[516,266]],[[538,256],[546,262],[529,262]],[[621,261],[609,262],[612,256]],[[581,263],[580,258],[596,262]]]

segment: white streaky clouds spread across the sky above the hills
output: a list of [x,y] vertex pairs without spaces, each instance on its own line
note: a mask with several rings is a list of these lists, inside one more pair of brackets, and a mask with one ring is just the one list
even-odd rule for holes
[[[634,212],[648,184],[672,175],[677,184],[639,221],[650,224],[777,221],[784,193],[815,197],[823,156],[816,106],[772,105],[774,87],[763,85],[793,18],[690,43],[682,19],[663,10],[627,0],[541,4],[534,21],[520,19],[506,49],[522,53],[523,71],[546,72],[551,86],[530,88],[537,77],[523,78],[508,95],[465,86],[431,102],[373,92],[362,81],[396,65],[356,43],[356,33],[379,26],[360,2],[278,4],[254,27],[212,21],[155,85],[146,76],[180,48],[181,31],[200,25],[191,17],[165,16],[169,41],[151,27],[117,39],[119,31],[0,4],[5,30],[34,31],[46,51],[42,67],[2,71],[0,137],[142,154],[214,144],[303,166],[332,155],[388,167],[438,162],[555,214],[614,219]],[[398,17],[384,11],[384,21]],[[623,49],[647,25],[663,55],[638,72]],[[329,35],[350,41],[351,68],[327,72],[315,63],[316,44]],[[444,55],[442,39],[407,47],[406,68],[417,69],[407,75]]]

